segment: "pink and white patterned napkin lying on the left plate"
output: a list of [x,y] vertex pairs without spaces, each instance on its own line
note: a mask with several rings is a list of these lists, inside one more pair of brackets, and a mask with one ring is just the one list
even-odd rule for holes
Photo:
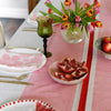
[[26,67],[37,64],[38,67],[42,63],[43,54],[24,54],[16,53],[7,50],[0,50],[0,64],[9,67]]

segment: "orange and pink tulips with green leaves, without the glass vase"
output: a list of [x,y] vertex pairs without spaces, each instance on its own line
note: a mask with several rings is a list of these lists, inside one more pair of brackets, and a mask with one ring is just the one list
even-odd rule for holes
[[[64,0],[64,3],[61,2],[62,11],[58,10],[50,0],[47,0],[44,3],[49,8],[48,13],[43,11],[40,12],[43,16],[52,18],[54,23],[61,23],[61,29],[71,30],[81,27],[81,30],[84,28],[88,33],[94,30],[93,26],[102,28],[102,22],[95,19],[100,12],[100,2],[93,4],[84,3],[84,6],[81,7],[78,0]],[[74,3],[74,10],[70,8],[71,3]]]

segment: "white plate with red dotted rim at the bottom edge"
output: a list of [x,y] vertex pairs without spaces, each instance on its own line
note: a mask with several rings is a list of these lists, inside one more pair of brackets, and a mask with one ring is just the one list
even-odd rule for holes
[[54,109],[41,100],[19,100],[1,105],[0,111],[54,111]]

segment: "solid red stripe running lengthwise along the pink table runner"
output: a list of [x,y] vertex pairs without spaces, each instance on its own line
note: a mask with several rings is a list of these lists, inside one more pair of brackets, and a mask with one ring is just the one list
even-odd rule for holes
[[[97,2],[97,1],[98,0],[94,0],[94,2]],[[82,84],[78,111],[84,111],[85,110],[85,101],[87,101],[87,93],[88,93],[88,85],[89,85],[89,78],[90,78],[90,70],[91,70],[91,62],[92,62],[92,56],[93,56],[93,39],[94,39],[94,32],[90,33],[88,59],[87,59],[87,65],[88,65],[88,69],[89,69],[89,73],[88,73],[88,77],[84,79],[83,84]]]

